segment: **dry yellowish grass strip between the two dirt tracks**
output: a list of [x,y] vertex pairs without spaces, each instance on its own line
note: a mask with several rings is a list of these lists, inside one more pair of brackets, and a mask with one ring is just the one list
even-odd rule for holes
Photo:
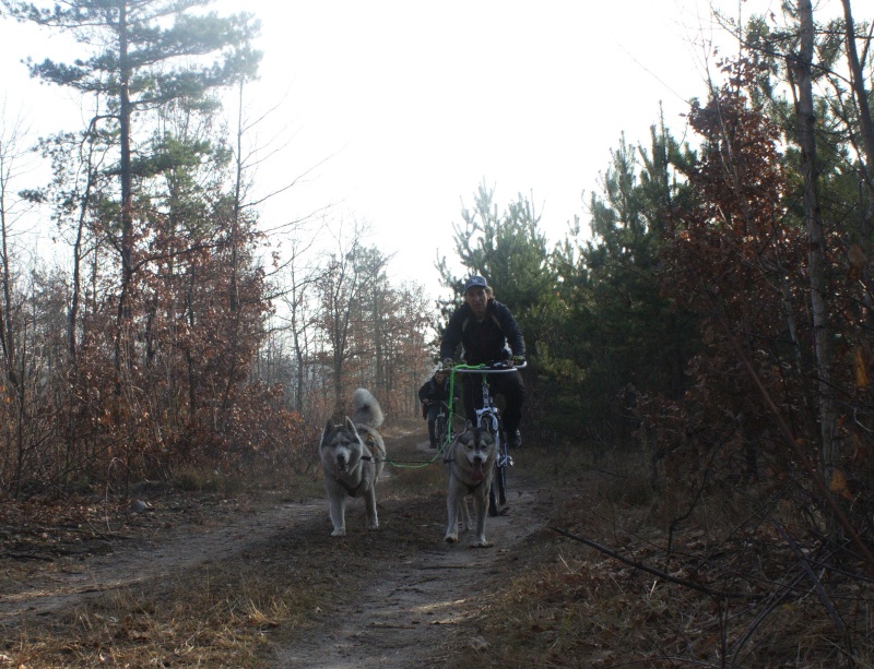
[[307,624],[344,580],[320,569],[324,547],[298,548],[288,537],[255,555],[101,595],[57,618],[23,620],[14,638],[5,631],[3,653],[13,666],[46,668],[257,666],[272,631]]

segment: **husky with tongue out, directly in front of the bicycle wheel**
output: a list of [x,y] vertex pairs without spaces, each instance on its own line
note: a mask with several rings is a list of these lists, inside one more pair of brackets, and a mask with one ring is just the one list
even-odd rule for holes
[[485,516],[488,512],[488,489],[495,471],[495,439],[488,431],[468,421],[464,431],[449,446],[445,462],[449,470],[446,540],[449,543],[458,541],[459,521],[463,519],[464,526],[473,529],[466,500],[470,495],[476,513],[476,536],[471,548],[494,546],[485,538]]

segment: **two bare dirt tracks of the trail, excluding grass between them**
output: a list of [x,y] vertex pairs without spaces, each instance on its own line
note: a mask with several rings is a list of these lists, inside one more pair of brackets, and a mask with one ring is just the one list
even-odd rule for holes
[[[387,440],[388,441],[388,440]],[[410,447],[411,439],[404,440]],[[388,443],[392,453],[391,442]],[[416,451],[428,451],[427,442]],[[167,516],[138,515],[149,531],[117,535],[94,541],[86,555],[76,554],[51,563],[0,562],[0,630],[11,630],[23,617],[71,610],[88,598],[117,588],[169,577],[185,578],[188,571],[232,559],[257,564],[271,557],[295,564],[299,546],[321,552],[326,572],[347,570],[346,558],[378,564],[354,594],[336,592],[312,613],[305,630],[274,647],[268,666],[276,669],[380,669],[451,667],[450,649],[459,644],[468,653],[484,650],[485,642],[472,622],[477,598],[496,578],[511,577],[513,561],[527,538],[543,528],[543,510],[535,490],[524,488],[510,470],[508,513],[489,517],[486,536],[493,548],[472,549],[472,535],[462,534],[447,545],[445,497],[403,499],[395,494],[380,506],[379,533],[368,533],[361,501],[347,512],[354,527],[349,537],[332,539],[324,499],[236,506],[233,500],[212,506],[191,505]],[[388,467],[383,490],[391,477],[403,475]],[[378,493],[379,494],[379,493]],[[194,517],[200,516],[200,517]],[[142,528],[142,526],[141,526]],[[101,554],[103,552],[103,554]],[[31,566],[33,564],[33,566]],[[46,566],[48,564],[48,566]],[[256,568],[257,569],[257,568]],[[143,585],[143,587],[146,587]]]

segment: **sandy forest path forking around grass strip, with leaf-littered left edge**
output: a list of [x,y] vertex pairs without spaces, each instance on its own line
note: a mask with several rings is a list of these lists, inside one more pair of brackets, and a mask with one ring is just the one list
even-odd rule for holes
[[[389,457],[400,459],[424,462],[435,454],[421,434],[387,439],[387,446]],[[486,536],[494,542],[487,549],[470,548],[470,533],[446,543],[446,492],[435,491],[433,482],[430,492],[417,491],[412,475],[398,467],[386,468],[378,488],[380,529],[368,531],[363,502],[351,500],[347,536],[340,539],[330,537],[326,499],[288,501],[287,493],[280,502],[275,495],[271,501],[158,491],[143,495],[147,510],[126,509],[99,534],[97,504],[91,510],[95,518],[60,526],[67,530],[29,527],[28,538],[0,527],[13,539],[4,542],[0,560],[0,631],[14,634],[27,619],[57,622],[116,593],[164,597],[170,606],[168,583],[199,583],[211,570],[262,581],[280,573],[292,592],[326,578],[336,586],[327,597],[321,590],[303,624],[280,624],[269,636],[259,654],[264,666],[451,667],[459,650],[486,649],[476,629],[482,598],[497,580],[512,577],[519,551],[544,530],[546,510],[538,491],[515,476],[525,455],[523,450],[515,456],[506,513],[487,519]],[[442,464],[435,459],[428,475],[442,481]]]

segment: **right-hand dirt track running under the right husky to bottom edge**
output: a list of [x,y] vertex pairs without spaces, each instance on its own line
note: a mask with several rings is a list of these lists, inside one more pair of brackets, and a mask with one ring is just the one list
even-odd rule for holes
[[[427,444],[425,443],[424,446]],[[510,490],[512,478],[508,483]],[[477,596],[501,575],[511,576],[515,552],[540,530],[536,495],[511,493],[507,515],[488,518],[486,536],[495,547],[472,549],[471,533],[456,545],[398,555],[385,578],[368,585],[354,601],[324,612],[307,640],[276,653],[276,669],[446,668],[448,645],[469,653],[486,649],[470,620]],[[435,524],[435,536],[445,525]],[[460,633],[463,632],[463,633]],[[453,640],[453,641],[450,641]]]

